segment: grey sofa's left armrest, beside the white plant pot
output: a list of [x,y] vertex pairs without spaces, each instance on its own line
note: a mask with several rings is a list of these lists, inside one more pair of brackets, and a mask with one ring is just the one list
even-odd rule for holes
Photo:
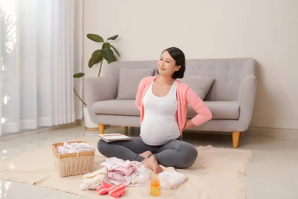
[[91,77],[84,81],[85,101],[91,121],[98,123],[97,115],[93,112],[93,103],[117,98],[117,87],[108,77]]

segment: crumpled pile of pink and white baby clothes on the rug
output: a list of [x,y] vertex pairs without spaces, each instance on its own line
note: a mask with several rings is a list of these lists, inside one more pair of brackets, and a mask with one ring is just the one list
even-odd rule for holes
[[138,186],[139,171],[142,163],[137,161],[122,160],[119,158],[107,158],[100,164],[108,171],[107,182],[114,185],[123,183],[127,187]]

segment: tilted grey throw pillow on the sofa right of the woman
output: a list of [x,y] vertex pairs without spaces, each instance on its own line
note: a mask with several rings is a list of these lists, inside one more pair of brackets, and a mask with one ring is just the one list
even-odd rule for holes
[[180,82],[184,82],[202,99],[204,100],[211,85],[214,82],[214,78],[203,77],[198,75],[185,74],[184,78],[179,79]]

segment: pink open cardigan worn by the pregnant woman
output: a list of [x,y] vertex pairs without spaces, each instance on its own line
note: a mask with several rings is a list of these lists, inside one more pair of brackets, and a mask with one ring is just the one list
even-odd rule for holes
[[[144,106],[143,98],[150,87],[152,81],[158,76],[149,76],[144,78],[138,88],[138,93],[136,96],[136,105],[141,111],[141,124],[144,118]],[[186,124],[186,115],[188,112],[188,103],[193,107],[193,109],[198,113],[191,120],[196,125],[199,126],[206,121],[212,119],[212,114],[207,105],[201,100],[198,95],[188,86],[188,84],[179,82],[177,83],[177,101],[178,101],[178,125],[180,133],[182,134],[182,129]]]

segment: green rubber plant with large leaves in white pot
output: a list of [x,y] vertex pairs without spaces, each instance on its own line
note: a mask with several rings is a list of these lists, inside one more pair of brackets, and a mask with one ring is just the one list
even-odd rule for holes
[[[92,68],[95,64],[100,63],[100,67],[99,67],[99,71],[98,71],[98,77],[100,76],[103,60],[106,60],[108,62],[108,64],[117,61],[116,56],[114,55],[114,52],[120,58],[120,55],[119,55],[119,52],[117,51],[117,49],[109,43],[109,40],[115,40],[115,39],[117,39],[117,37],[118,37],[118,35],[114,35],[112,37],[107,38],[107,41],[104,42],[103,38],[101,36],[97,35],[97,34],[87,34],[87,38],[89,38],[90,40],[95,41],[95,42],[99,42],[99,43],[103,43],[101,49],[95,50],[92,53],[91,58],[89,59],[89,62],[88,62],[88,67],[89,68]],[[76,74],[74,74],[74,78],[81,78],[84,75],[85,75],[84,73],[76,73]],[[88,110],[87,110],[87,107],[86,107],[87,104],[84,102],[84,100],[82,100],[82,98],[80,98],[78,96],[75,89],[74,89],[74,94],[85,105],[85,107],[83,107],[85,129],[86,130],[98,130],[98,124],[92,122],[90,117],[89,117]]]

